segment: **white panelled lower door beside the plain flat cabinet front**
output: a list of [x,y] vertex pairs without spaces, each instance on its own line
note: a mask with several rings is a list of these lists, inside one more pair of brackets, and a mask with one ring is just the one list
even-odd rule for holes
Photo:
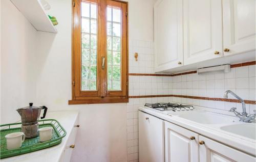
[[199,134],[164,121],[164,135],[165,162],[199,161]]

